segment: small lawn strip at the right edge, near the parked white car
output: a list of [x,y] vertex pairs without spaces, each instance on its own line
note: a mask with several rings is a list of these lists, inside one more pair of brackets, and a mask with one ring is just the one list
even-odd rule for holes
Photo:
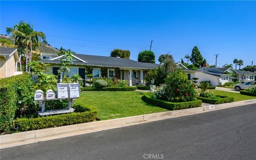
[[234,97],[234,101],[243,101],[243,100],[249,100],[249,99],[256,99],[256,97],[249,96],[249,95],[243,95],[239,93],[233,93],[233,92],[225,92],[225,91],[218,91],[218,90],[210,90],[214,94],[227,96],[227,97]]

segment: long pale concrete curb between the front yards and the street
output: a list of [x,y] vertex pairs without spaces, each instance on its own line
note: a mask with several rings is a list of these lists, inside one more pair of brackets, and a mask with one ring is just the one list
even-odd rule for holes
[[0,135],[0,149],[256,103],[256,99]]

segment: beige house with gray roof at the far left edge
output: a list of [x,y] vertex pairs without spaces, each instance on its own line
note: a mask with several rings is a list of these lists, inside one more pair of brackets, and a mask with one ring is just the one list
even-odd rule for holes
[[22,71],[17,71],[19,62],[17,49],[0,47],[0,78],[22,74]]

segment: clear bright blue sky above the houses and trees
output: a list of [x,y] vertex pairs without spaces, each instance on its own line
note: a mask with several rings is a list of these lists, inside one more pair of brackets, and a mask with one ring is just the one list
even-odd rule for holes
[[54,47],[109,56],[149,50],[180,61],[196,45],[210,65],[244,60],[256,64],[256,2],[241,1],[1,1],[1,34],[24,20],[43,31]]

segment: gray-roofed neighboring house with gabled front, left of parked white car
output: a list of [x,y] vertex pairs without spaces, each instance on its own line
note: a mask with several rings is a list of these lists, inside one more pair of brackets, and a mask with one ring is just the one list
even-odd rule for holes
[[[233,82],[237,77],[233,77],[231,74],[236,73],[233,68],[213,68],[213,67],[201,67],[197,69],[205,74],[214,75],[219,77],[219,82],[225,84],[226,82]],[[228,74],[229,73],[229,74]],[[218,83],[219,83],[218,82]]]

